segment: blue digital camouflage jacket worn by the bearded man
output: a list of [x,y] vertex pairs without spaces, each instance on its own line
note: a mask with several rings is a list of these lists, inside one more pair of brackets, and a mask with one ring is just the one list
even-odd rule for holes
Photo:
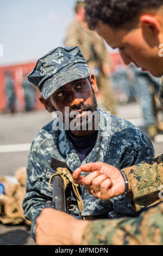
[[[99,119],[95,147],[82,163],[67,132],[65,130],[55,131],[54,127],[57,127],[58,119],[45,125],[34,138],[28,156],[26,196],[23,201],[24,216],[32,221],[31,233],[34,239],[35,220],[40,215],[43,204],[47,200],[52,200],[52,190],[49,187],[49,173],[55,173],[51,167],[52,158],[65,162],[73,172],[81,164],[100,161],[123,169],[141,161],[147,161],[154,156],[151,141],[133,124],[100,110],[98,113],[105,124],[110,124],[110,129],[104,129],[104,123]],[[87,173],[82,175],[87,175]],[[77,218],[85,216],[94,218],[97,216],[98,218],[103,214],[107,214],[109,218],[118,218],[137,214],[124,195],[102,201],[89,194],[84,186],[80,188],[84,203],[82,216],[71,192],[73,204],[76,206],[72,214]]]

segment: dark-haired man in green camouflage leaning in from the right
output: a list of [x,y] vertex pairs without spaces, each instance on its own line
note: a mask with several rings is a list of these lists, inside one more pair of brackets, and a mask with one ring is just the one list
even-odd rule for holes
[[[162,0],[159,2],[156,0],[143,2],[126,0],[123,1],[123,6],[120,0],[86,0],[85,2],[89,27],[92,29],[97,28],[98,32],[111,47],[118,47],[126,64],[134,62],[137,66],[141,66],[143,70],[149,70],[154,76],[159,77],[163,74],[163,59],[160,50],[161,45],[159,45],[163,41]],[[94,24],[91,25],[91,21]],[[161,106],[163,106],[162,88],[163,79],[161,79],[160,86]],[[121,173],[115,167],[109,165],[104,167],[103,163],[98,163],[98,165],[97,163],[89,163],[80,166],[79,170],[80,172],[92,171],[91,174],[95,172],[96,175],[93,174],[95,179],[101,177],[102,173],[105,173],[105,175],[108,173],[110,184],[114,184],[110,188],[108,184],[103,186],[103,190],[105,188],[105,191],[108,191],[108,195],[110,191],[114,191],[117,195],[118,192],[121,191],[122,193],[125,190],[122,178],[118,179],[118,177],[121,177]],[[102,173],[100,174],[101,171]],[[78,170],[75,172],[77,172],[75,176],[77,181],[80,172],[78,173]],[[67,245],[162,245],[163,156],[151,158],[150,161],[124,168],[122,172],[127,176],[128,188],[133,193],[135,208],[137,210],[146,209],[139,217],[84,222],[72,220],[71,216],[62,214],[61,217],[65,219],[62,225],[71,229],[69,235],[71,235],[72,239],[68,240],[65,239],[65,237],[68,237],[67,233],[61,234],[62,227],[57,227],[56,225],[57,229],[55,228],[55,231],[58,237],[53,232],[54,223],[51,222],[51,228],[48,227],[49,216],[58,217],[57,221],[60,219],[58,211],[46,209],[37,219],[37,243],[58,245],[61,244],[59,241],[62,241],[63,244]],[[87,175],[87,178],[89,175]],[[91,177],[89,181],[86,181],[85,178],[82,178],[85,185],[92,191],[92,194],[104,196],[100,186],[102,182],[99,180],[97,182],[97,179],[94,182],[93,179]],[[80,182],[82,182],[81,176]],[[119,186],[117,186],[118,184]],[[108,190],[106,189],[107,187]],[[111,194],[111,196],[114,195],[114,193]],[[128,197],[128,195],[126,196]],[[44,229],[42,223],[47,224],[47,228]],[[75,227],[74,230],[72,230],[72,227]]]

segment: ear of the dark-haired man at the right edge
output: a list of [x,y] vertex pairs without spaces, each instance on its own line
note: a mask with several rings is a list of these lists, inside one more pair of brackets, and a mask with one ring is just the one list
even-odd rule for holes
[[146,26],[154,35],[158,35],[160,33],[160,22],[154,16],[142,15],[140,17],[140,21],[142,26]]

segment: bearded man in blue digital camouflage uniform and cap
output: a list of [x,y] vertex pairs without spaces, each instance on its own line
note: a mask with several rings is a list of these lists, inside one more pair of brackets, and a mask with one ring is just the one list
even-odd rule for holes
[[[133,124],[97,109],[96,78],[90,74],[78,46],[58,47],[48,52],[37,61],[28,80],[40,89],[40,101],[45,108],[63,116],[62,127],[59,126],[60,118],[57,118],[39,131],[28,157],[23,209],[24,216],[32,221],[32,237],[35,238],[35,220],[43,204],[52,199],[49,178],[58,167],[66,166],[73,172],[84,163],[104,162],[122,169],[149,160],[154,150],[148,137]],[[72,116],[74,111],[76,115]],[[78,120],[81,121],[79,124]],[[85,124],[86,129],[81,129]],[[52,168],[52,161],[55,168]],[[81,186],[80,196],[82,211],[73,191],[70,191],[66,210],[79,219],[139,215],[124,194],[104,201],[93,197],[86,187]]]

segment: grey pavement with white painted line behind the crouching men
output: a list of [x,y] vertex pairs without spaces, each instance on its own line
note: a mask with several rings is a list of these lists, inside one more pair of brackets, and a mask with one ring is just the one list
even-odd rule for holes
[[[139,104],[117,106],[117,116],[136,126],[143,123]],[[160,119],[162,118],[162,115]],[[30,144],[42,126],[51,121],[52,113],[34,111],[0,115],[0,175],[13,176],[16,169],[26,166]],[[163,137],[153,142],[155,155],[162,154]],[[0,245],[35,245],[26,225],[0,224]]]

